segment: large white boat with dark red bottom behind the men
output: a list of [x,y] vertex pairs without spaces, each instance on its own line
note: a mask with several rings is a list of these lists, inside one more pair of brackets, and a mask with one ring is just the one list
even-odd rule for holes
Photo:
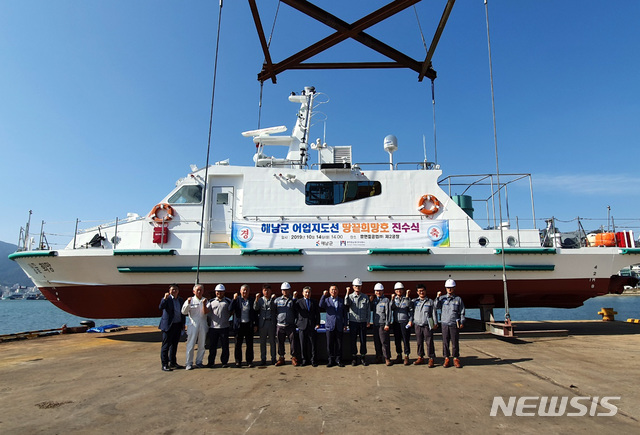
[[[491,307],[504,303],[503,270],[511,307],[575,307],[622,292],[628,277],[617,273],[638,262],[640,249],[569,249],[558,237],[545,247],[540,231],[520,221],[483,228],[445,191],[451,179],[437,165],[393,164],[392,140],[384,143],[391,162],[371,170],[351,147],[309,141],[315,97],[311,87],[289,97],[300,105],[290,135],[285,127],[243,133],[258,145],[254,166],[195,169],[148,216],[10,258],[56,306],[91,318],[155,317],[168,285],[179,283],[187,296],[198,270],[209,294],[218,282],[258,291],[287,281],[319,292],[354,277],[365,292],[402,281],[435,293],[454,278],[467,306]],[[282,147],[286,155],[269,156]]]

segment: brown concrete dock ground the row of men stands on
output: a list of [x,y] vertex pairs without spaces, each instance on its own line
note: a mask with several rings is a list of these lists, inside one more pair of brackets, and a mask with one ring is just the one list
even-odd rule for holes
[[[284,367],[167,373],[155,327],[0,343],[0,433],[637,433],[640,324],[517,325],[516,332],[569,335],[469,336],[461,341],[462,369],[443,368],[441,358],[432,369],[293,367],[287,356]],[[180,343],[182,364],[184,351]],[[563,416],[492,417],[495,396],[585,397],[589,412],[567,416],[580,410],[568,406]],[[615,415],[590,416],[594,396],[619,397],[610,402]],[[522,400],[533,405],[525,412],[538,412],[540,399]]]

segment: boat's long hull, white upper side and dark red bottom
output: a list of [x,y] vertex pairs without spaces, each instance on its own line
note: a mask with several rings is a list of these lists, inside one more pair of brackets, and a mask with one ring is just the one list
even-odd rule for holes
[[[443,290],[446,279],[454,278],[467,307],[504,306],[501,256],[487,249],[433,249],[422,255],[371,255],[366,250],[263,254],[242,255],[237,249],[207,251],[200,259],[197,279],[208,296],[213,296],[216,283],[224,283],[229,295],[249,284],[253,295],[263,283],[270,283],[278,293],[284,281],[299,291],[309,285],[316,297],[331,284],[337,284],[344,294],[351,280],[360,277],[368,294],[376,282],[391,293],[394,283],[401,281],[411,289],[424,283],[428,295],[434,297]],[[181,295],[190,296],[198,264],[195,252],[118,256],[104,249],[63,250],[46,258],[15,260],[54,305],[96,319],[159,316],[160,298],[170,284],[178,283]],[[633,283],[616,272],[631,262],[615,248],[507,255],[509,306],[572,308],[594,296],[621,293],[624,285]]]

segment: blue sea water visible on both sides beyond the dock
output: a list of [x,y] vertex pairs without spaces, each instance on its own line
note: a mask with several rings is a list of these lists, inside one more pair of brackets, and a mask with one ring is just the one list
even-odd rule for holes
[[[463,299],[464,300],[464,299]],[[158,300],[158,303],[160,301]],[[640,295],[599,296],[585,301],[578,308],[511,308],[509,313],[513,321],[522,320],[599,320],[601,308],[613,308],[618,312],[616,320],[640,318]],[[37,331],[42,329],[80,326],[82,320],[94,320],[96,326],[116,324],[122,326],[157,326],[158,317],[137,319],[85,319],[66,313],[48,301],[3,300],[0,301],[0,335],[16,332]],[[479,310],[468,309],[467,317],[480,318]],[[496,308],[494,317],[497,321],[504,319],[504,309]]]

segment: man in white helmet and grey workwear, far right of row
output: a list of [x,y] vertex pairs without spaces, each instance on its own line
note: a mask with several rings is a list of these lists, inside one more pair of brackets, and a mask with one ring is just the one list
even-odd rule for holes
[[[451,365],[451,354],[453,354],[453,365],[461,368],[460,349],[458,346],[460,329],[464,327],[464,304],[460,296],[455,295],[456,282],[448,279],[444,284],[447,294],[440,296],[438,292],[437,307],[441,310],[440,324],[442,325],[442,353],[444,355],[444,367]],[[451,341],[451,353],[449,353],[449,341]]]

